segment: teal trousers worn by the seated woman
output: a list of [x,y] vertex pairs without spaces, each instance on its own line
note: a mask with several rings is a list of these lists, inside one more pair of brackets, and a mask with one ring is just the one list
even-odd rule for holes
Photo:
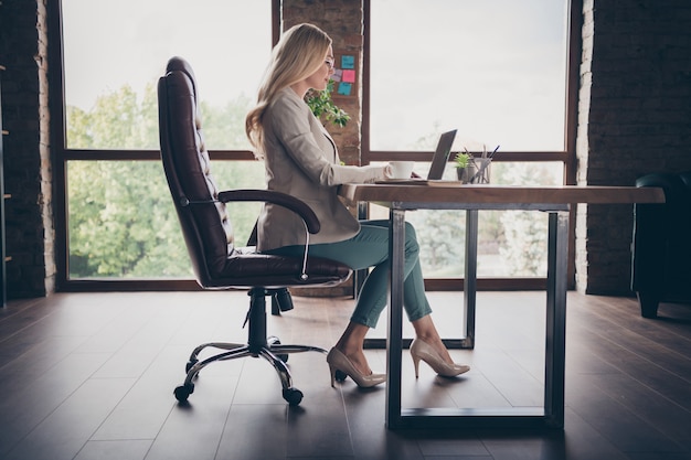
[[[301,257],[304,252],[305,246],[286,246],[266,253]],[[410,321],[432,313],[418,254],[415,228],[406,222],[403,307]],[[340,261],[353,270],[372,268],[358,296],[351,321],[375,328],[389,297],[389,221],[361,221],[360,232],[352,238],[309,245],[309,255]]]

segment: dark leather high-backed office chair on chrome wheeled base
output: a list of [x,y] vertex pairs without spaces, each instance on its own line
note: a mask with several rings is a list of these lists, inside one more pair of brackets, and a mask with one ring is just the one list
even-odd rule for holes
[[[190,65],[172,57],[166,75],[158,83],[161,160],[182,234],[196,280],[204,289],[248,289],[249,311],[246,344],[204,343],[192,352],[185,366],[184,383],[174,391],[185,402],[194,391],[193,381],[206,365],[244,356],[262,356],[278,373],[283,397],[298,405],[302,393],[293,387],[285,364],[288,353],[326,350],[308,345],[280,344],[266,336],[266,296],[288,296],[289,286],[332,286],[351,275],[349,267],[316,257],[293,258],[257,254],[251,247],[237,247],[226,212],[227,202],[270,202],[285,206],[305,221],[306,232],[319,232],[319,221],[311,208],[294,196],[267,190],[227,190],[219,192],[210,171],[196,100],[196,83]],[[309,236],[309,234],[307,235]],[[206,347],[222,352],[200,361]]]

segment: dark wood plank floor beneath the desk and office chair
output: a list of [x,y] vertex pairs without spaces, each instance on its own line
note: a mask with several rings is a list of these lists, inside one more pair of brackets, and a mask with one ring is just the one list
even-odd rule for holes
[[[430,292],[445,336],[460,334],[461,293]],[[269,318],[284,343],[330,347],[351,299],[296,298]],[[329,385],[323,355],[294,354],[299,407],[273,368],[245,359],[206,367],[182,407],[172,389],[192,347],[244,341],[245,292],[61,293],[0,311],[0,459],[691,459],[691,308],[645,320],[634,299],[568,295],[566,417],[559,432],[384,427],[384,391]],[[372,335],[381,335],[381,327]],[[544,295],[480,292],[471,371],[416,381],[403,405],[542,404]],[[368,351],[384,368],[382,351]],[[424,365],[424,364],[423,364]]]

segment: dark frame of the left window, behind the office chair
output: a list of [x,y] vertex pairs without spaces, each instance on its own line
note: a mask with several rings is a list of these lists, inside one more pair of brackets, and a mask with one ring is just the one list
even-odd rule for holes
[[[272,44],[280,35],[280,0],[272,2]],[[47,2],[49,17],[49,65],[53,69],[49,82],[51,94],[51,151],[53,167],[53,208],[55,220],[55,289],[57,291],[174,291],[200,290],[192,279],[70,279],[68,274],[68,221],[67,221],[67,171],[68,161],[160,161],[158,150],[91,150],[68,149],[66,147],[66,106],[63,66],[63,21],[62,0]],[[248,150],[211,150],[213,160],[254,161]]]

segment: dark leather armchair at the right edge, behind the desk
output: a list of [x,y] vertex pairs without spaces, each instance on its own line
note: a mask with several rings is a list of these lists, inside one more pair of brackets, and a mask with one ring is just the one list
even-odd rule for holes
[[665,204],[636,204],[631,290],[645,318],[662,301],[691,301],[691,171],[639,178],[637,186],[665,190]]

